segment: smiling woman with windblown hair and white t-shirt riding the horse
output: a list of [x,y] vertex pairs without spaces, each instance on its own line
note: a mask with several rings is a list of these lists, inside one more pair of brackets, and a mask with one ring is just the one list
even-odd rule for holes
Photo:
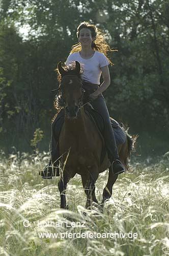
[[[110,50],[108,44],[103,39],[103,34],[100,33],[96,26],[87,22],[81,23],[77,28],[78,44],[72,46],[72,51],[66,60],[66,65],[77,60],[82,68],[82,79],[85,90],[90,94],[91,104],[98,111],[105,122],[104,140],[107,148],[108,158],[111,162],[112,172],[115,175],[124,172],[124,167],[119,160],[116,139],[112,130],[109,113],[105,104],[102,92],[110,85],[110,75],[108,65],[111,61],[106,57],[106,53]],[[111,63],[112,64],[112,63]],[[103,83],[100,84],[100,76],[103,76]],[[43,178],[51,178],[52,166],[51,162],[55,162],[54,155],[57,152],[53,151],[56,148],[57,142],[51,140],[51,161],[46,165]],[[58,174],[57,174],[58,176]]]

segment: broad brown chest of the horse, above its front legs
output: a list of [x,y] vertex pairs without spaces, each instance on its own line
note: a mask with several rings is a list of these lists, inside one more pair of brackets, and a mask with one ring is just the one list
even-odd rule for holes
[[100,163],[101,146],[99,134],[89,120],[86,129],[66,129],[65,125],[60,133],[60,155],[63,162],[67,158],[66,166],[76,170],[77,173],[83,169],[91,168],[93,162]]

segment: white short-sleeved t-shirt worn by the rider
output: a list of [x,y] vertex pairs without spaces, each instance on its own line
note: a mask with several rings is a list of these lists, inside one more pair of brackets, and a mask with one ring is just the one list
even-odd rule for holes
[[79,52],[71,53],[66,60],[66,65],[69,65],[75,60],[77,60],[83,68],[81,76],[83,80],[100,84],[101,68],[109,65],[106,56],[102,52],[95,51],[94,55],[89,59],[83,59]]

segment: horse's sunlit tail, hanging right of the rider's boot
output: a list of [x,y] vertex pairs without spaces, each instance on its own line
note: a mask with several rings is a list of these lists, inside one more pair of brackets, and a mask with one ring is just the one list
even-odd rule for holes
[[124,166],[126,170],[130,170],[128,161],[130,159],[131,152],[135,151],[135,144],[136,144],[136,139],[138,138],[138,135],[130,136],[127,130],[125,131],[125,133],[127,137],[127,152],[126,152],[126,157],[124,159]]

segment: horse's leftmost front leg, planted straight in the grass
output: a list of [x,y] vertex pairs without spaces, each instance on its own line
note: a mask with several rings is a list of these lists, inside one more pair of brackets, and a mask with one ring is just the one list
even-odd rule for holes
[[[74,174],[75,175],[75,174]],[[59,183],[58,183],[58,188],[60,191],[60,195],[61,195],[61,208],[63,209],[68,209],[68,205],[66,205],[66,187],[67,187],[67,183],[69,182],[69,180],[71,178],[74,177],[74,175],[70,174],[70,173],[63,173],[63,176],[61,177]]]

